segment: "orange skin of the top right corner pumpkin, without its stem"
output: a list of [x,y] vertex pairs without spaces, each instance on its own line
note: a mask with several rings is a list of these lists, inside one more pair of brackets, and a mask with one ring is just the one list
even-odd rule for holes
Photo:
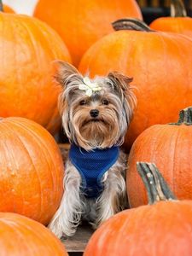
[[192,38],[192,19],[189,17],[161,17],[154,20],[150,27],[157,31],[176,32]]

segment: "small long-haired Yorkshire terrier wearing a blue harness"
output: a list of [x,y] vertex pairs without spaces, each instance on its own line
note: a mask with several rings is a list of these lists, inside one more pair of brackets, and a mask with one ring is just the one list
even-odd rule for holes
[[125,208],[126,156],[119,150],[136,98],[132,79],[117,72],[90,80],[59,61],[55,79],[62,125],[71,143],[63,181],[64,195],[49,229],[73,236],[81,219],[94,228]]

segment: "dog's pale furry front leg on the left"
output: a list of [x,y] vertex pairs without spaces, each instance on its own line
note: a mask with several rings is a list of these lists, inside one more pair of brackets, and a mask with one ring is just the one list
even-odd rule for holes
[[50,221],[49,229],[56,236],[73,236],[81,218],[83,202],[80,200],[81,177],[75,167],[68,162],[63,180],[64,194],[61,205]]

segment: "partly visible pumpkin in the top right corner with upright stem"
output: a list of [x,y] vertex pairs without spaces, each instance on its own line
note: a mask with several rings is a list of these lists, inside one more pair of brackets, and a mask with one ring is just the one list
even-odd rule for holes
[[171,1],[171,17],[160,17],[150,27],[163,32],[177,32],[192,38],[192,18],[187,17],[182,0]]

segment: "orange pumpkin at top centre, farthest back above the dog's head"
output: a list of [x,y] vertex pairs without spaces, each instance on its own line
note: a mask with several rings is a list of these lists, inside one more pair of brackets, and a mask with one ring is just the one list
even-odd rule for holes
[[142,19],[135,0],[39,0],[34,16],[60,34],[76,67],[90,45],[113,32],[113,20],[128,16]]

